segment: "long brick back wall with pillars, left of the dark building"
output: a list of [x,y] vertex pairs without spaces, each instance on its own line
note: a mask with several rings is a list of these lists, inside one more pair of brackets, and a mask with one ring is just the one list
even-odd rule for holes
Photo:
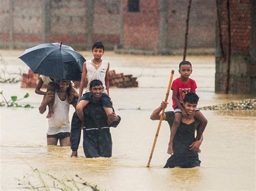
[[[85,49],[93,42],[103,41],[108,47],[122,45],[156,52],[159,46],[170,52],[183,49],[188,1],[140,0],[139,12],[129,12],[127,3],[128,0],[1,0],[0,47],[63,42]],[[161,14],[160,5],[165,9]],[[214,22],[214,1],[193,0],[188,49],[214,48]]]

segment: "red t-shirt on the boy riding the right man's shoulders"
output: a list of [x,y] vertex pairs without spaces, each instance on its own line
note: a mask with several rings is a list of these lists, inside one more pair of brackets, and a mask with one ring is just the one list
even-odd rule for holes
[[[197,84],[196,81],[188,78],[187,83],[183,83],[180,78],[177,78],[172,82],[171,89],[172,91],[177,91],[177,98],[180,103],[184,99],[185,95],[189,92],[196,92]],[[175,103],[174,99],[172,98],[172,107],[176,108],[177,104]]]

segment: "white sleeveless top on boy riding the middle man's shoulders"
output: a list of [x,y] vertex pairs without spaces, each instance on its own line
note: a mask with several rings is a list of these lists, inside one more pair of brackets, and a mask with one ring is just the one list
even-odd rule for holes
[[98,70],[92,65],[92,60],[86,61],[86,78],[88,79],[88,85],[86,87],[85,92],[90,92],[90,82],[92,80],[100,80],[102,81],[104,91],[103,93],[107,93],[106,91],[106,85],[105,85],[105,76],[107,71],[107,66],[109,65],[109,62],[107,60],[102,60],[102,65],[99,66]]

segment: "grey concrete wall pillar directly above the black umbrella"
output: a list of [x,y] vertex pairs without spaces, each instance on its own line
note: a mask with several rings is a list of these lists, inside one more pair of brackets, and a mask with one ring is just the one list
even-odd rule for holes
[[43,19],[44,19],[44,43],[49,43],[49,33],[50,33],[50,0],[44,0],[44,9],[43,9]]

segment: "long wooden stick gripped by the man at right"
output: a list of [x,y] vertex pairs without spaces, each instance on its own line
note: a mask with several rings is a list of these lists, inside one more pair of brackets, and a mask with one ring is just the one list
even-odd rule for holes
[[[172,85],[173,74],[174,74],[174,70],[172,70],[172,72],[171,72],[169,84],[168,84],[168,87],[167,87],[167,92],[166,92],[166,95],[165,95],[165,101],[167,101],[168,97],[169,97],[169,93],[170,93],[170,89],[171,89],[171,85]],[[164,111],[165,111],[165,109],[162,110],[161,115],[160,115],[160,120],[159,120],[158,127],[157,127],[157,133],[156,133],[156,137],[154,137],[154,142],[153,142],[153,146],[152,146],[152,149],[151,149],[149,161],[147,162],[147,167],[150,166],[150,161],[152,159],[152,155],[153,155],[153,152],[154,152],[154,147],[156,146],[156,142],[157,142],[158,134],[159,134],[159,131],[160,131],[161,123],[162,123],[162,120],[163,120],[163,117],[164,117]]]

